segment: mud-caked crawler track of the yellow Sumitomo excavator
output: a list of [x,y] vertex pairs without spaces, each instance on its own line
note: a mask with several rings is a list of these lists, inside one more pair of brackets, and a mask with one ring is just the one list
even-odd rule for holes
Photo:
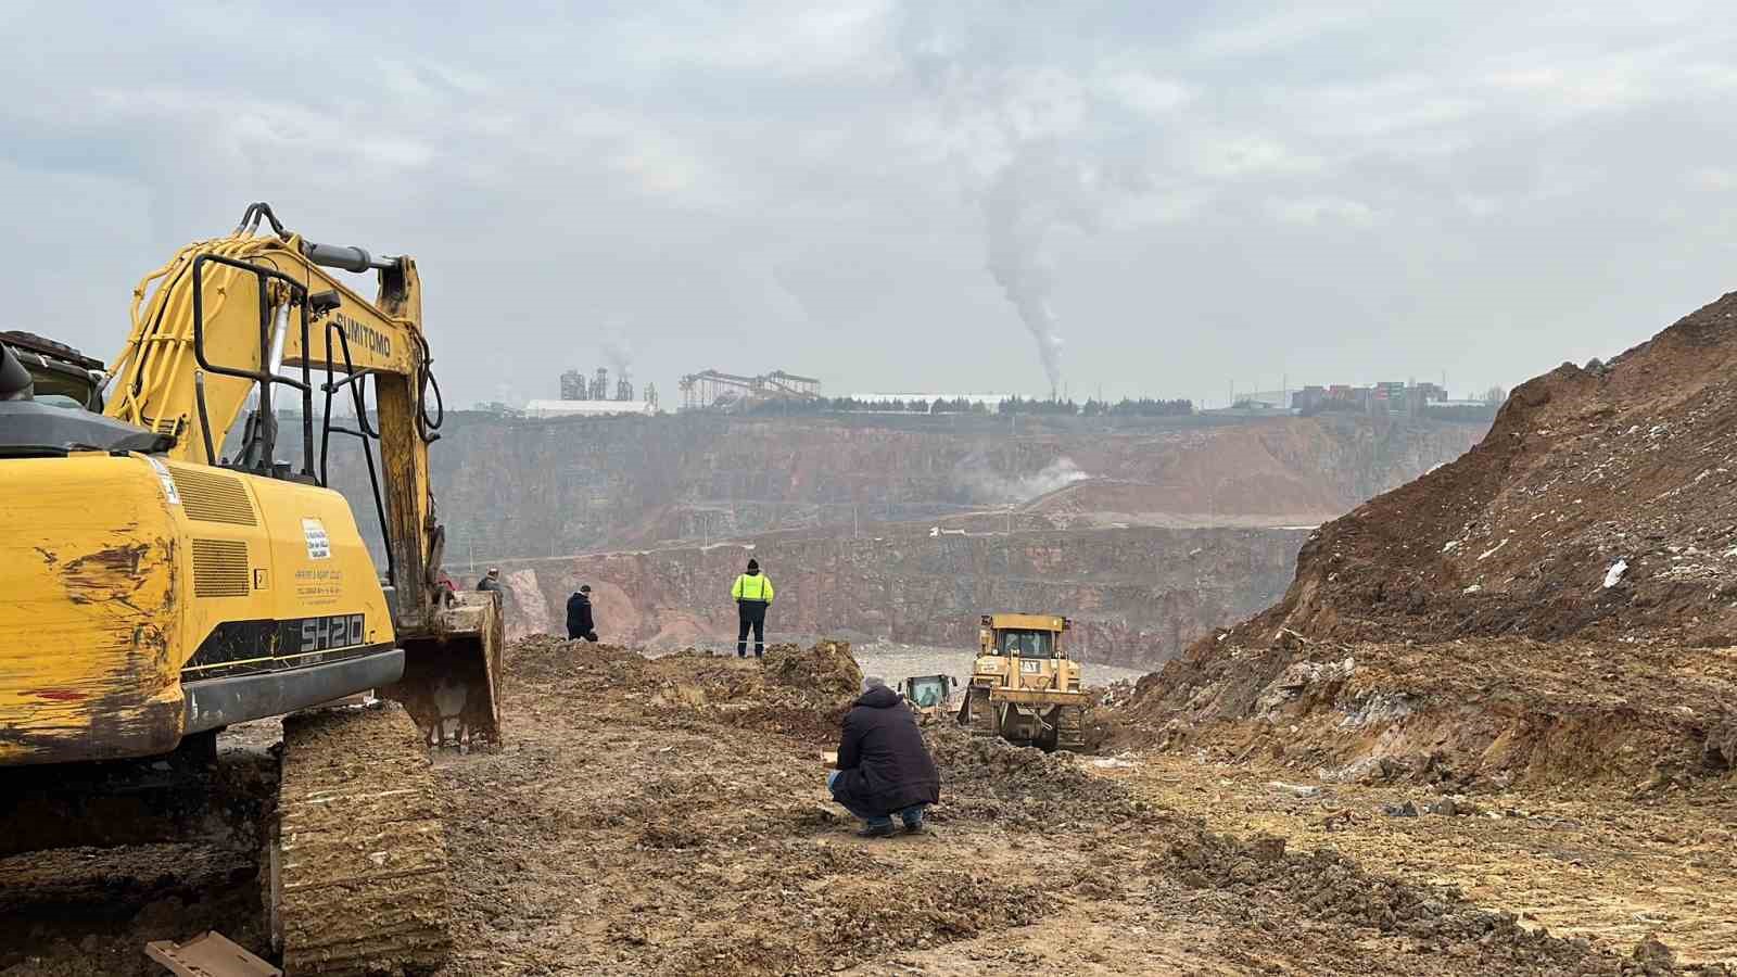
[[273,937],[288,974],[426,974],[452,953],[446,838],[403,708],[283,720]]

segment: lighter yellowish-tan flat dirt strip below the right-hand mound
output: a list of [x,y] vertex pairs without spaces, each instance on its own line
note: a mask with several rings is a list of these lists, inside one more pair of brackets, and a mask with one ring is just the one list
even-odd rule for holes
[[1612,951],[1657,935],[1683,963],[1737,965],[1737,784],[1456,793],[1344,784],[1171,753],[1087,760],[1136,796],[1292,850],[1334,848],[1454,885],[1530,927]]

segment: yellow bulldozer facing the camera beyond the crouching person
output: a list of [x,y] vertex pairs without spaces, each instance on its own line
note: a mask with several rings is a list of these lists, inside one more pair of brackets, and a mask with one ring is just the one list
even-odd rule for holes
[[1068,619],[985,614],[959,723],[1039,749],[1082,749],[1086,692],[1080,666],[1061,647]]

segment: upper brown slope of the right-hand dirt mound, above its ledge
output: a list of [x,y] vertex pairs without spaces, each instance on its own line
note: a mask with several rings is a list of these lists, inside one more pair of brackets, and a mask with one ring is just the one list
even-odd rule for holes
[[1520,386],[1464,457],[1322,527],[1258,626],[1737,643],[1737,294],[1591,367]]

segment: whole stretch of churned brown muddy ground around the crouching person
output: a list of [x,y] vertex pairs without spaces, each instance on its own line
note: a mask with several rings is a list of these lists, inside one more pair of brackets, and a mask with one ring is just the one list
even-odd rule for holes
[[[1673,972],[1661,946],[1633,958],[1654,928],[1685,958],[1730,953],[1728,808],[1600,808],[1617,826],[1565,831],[1558,855],[1527,848],[1556,831],[1530,814],[1386,819],[1384,796],[1334,793],[1353,829],[1329,834],[1327,800],[1247,767],[931,727],[933,829],[860,840],[820,758],[855,668],[839,654],[516,647],[507,746],[436,763],[459,888],[441,974]],[[1673,867],[1673,840],[1702,874]],[[132,892],[101,861],[0,862],[0,974],[151,974],[146,939],[208,925],[257,939],[245,861],[132,855]]]

